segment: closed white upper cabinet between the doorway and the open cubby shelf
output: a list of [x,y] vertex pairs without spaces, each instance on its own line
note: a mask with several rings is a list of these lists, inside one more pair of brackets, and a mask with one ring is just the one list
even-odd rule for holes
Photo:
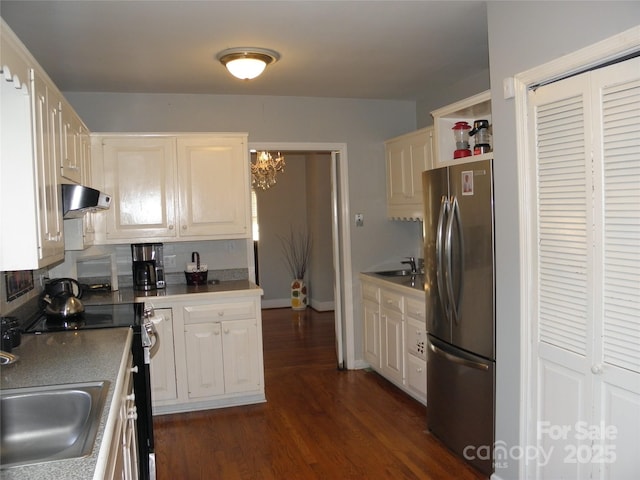
[[427,127],[385,142],[389,218],[422,218],[422,172],[433,168],[432,139]]

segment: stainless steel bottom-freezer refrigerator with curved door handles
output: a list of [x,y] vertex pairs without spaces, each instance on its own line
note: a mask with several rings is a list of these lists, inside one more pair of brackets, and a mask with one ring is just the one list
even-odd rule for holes
[[492,161],[423,173],[427,425],[493,472],[495,276]]

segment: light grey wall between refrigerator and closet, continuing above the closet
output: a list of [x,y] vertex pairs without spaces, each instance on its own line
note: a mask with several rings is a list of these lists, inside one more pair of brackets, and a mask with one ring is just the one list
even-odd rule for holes
[[[495,152],[497,392],[496,440],[519,445],[520,251],[515,104],[502,81],[640,23],[640,2],[489,2],[489,54]],[[496,470],[517,479],[510,458]]]

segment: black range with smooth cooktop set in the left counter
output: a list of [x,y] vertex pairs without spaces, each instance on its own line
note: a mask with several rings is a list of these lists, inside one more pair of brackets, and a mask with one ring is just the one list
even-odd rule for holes
[[151,410],[150,359],[160,338],[153,319],[144,312],[144,303],[85,305],[84,312],[73,322],[60,322],[44,313],[26,322],[25,333],[45,333],[60,330],[130,327],[133,329],[133,373],[136,427],[138,432],[138,470],[141,480],[155,480],[155,446]]

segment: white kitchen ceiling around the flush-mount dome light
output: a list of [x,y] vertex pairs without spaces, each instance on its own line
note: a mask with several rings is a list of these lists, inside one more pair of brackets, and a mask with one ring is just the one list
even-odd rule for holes
[[[489,67],[480,1],[1,0],[62,91],[419,99]],[[281,58],[252,81],[215,59]]]

